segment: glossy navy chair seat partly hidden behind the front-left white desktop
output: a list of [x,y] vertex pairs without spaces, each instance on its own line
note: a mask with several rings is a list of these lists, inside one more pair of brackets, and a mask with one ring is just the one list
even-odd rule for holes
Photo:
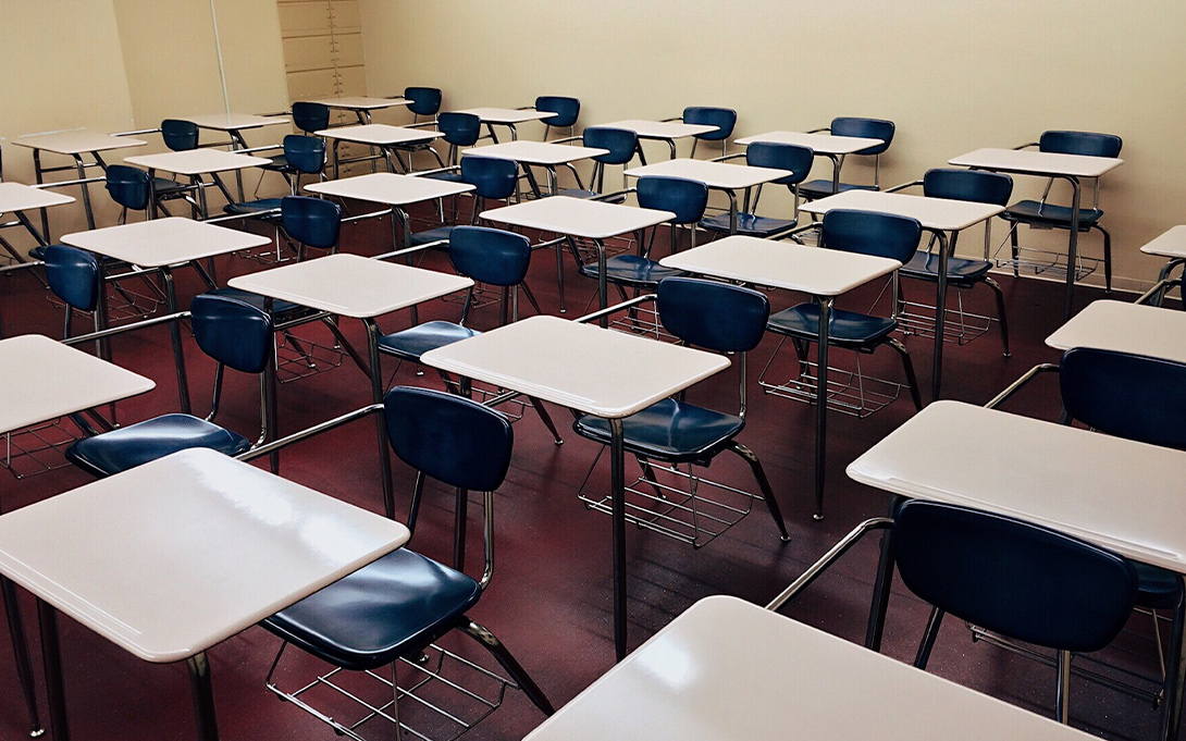
[[166,414],[83,437],[66,448],[66,460],[96,477],[107,477],[178,451],[210,448],[238,455],[251,441],[229,429],[187,414]]

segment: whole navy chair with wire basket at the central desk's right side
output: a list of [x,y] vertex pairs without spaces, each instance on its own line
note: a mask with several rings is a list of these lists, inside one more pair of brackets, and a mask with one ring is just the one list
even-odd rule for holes
[[[674,503],[688,498],[689,503],[684,506],[696,512],[696,515],[689,513],[690,517],[704,517],[704,512],[697,507],[706,509],[708,515],[716,515],[713,511],[714,503],[702,493],[704,488],[712,486],[712,483],[694,474],[691,467],[707,468],[719,453],[734,453],[750,465],[761,491],[761,499],[778,528],[779,537],[784,543],[789,542],[790,536],[783,515],[761,462],[753,451],[737,440],[745,429],[745,353],[761,341],[770,317],[770,301],[764,294],[750,288],[690,277],[668,277],[658,285],[656,306],[663,327],[684,344],[737,354],[740,410],[731,414],[706,409],[683,401],[681,395],[680,398],[663,400],[625,417],[621,421],[625,449],[638,459],[644,480],[655,487],[656,497],[648,499],[661,509],[668,509]],[[582,437],[605,446],[611,443],[610,423],[604,419],[580,415],[573,422],[573,429]],[[689,490],[680,496],[659,496],[652,461],[670,466],[687,465]],[[745,512],[748,512],[748,507],[745,507],[741,515]],[[675,518],[675,515],[671,515]],[[706,531],[708,525],[696,523],[695,519],[691,520],[690,531],[686,531],[672,522],[662,518],[650,519],[648,516],[653,516],[653,510],[643,507],[637,515],[631,516],[631,520],[667,535],[676,532],[674,537],[690,542],[695,548],[723,532],[723,530]],[[728,526],[738,520],[740,517],[728,522]],[[672,530],[674,528],[676,529]]]

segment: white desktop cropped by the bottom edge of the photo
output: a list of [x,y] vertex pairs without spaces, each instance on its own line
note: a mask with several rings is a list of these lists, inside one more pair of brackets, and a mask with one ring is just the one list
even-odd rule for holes
[[1088,741],[731,596],[689,607],[524,741]]

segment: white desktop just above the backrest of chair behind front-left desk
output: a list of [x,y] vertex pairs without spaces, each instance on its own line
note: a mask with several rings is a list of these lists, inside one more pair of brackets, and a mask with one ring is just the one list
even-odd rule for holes
[[63,236],[62,241],[144,268],[181,264],[272,242],[263,235],[179,216],[76,231]]

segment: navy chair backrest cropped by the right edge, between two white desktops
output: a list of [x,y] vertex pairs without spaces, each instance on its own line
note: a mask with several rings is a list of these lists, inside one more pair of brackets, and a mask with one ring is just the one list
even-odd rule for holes
[[1059,364],[1063,408],[1108,435],[1186,451],[1186,364],[1076,347]]

